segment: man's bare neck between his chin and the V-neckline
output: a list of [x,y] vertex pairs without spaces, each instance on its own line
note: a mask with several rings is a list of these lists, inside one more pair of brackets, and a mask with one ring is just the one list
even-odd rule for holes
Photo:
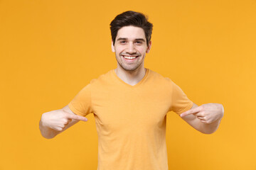
[[146,69],[144,67],[139,67],[134,71],[127,71],[124,70],[122,67],[117,66],[117,69],[114,69],[114,72],[116,72],[117,77],[122,79],[122,81],[131,86],[134,86],[143,79],[146,74]]

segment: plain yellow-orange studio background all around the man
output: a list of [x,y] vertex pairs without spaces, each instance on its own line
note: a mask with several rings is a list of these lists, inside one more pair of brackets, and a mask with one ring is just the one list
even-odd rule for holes
[[93,114],[46,140],[42,113],[66,106],[117,66],[110,22],[146,13],[154,24],[145,67],[198,106],[222,103],[204,135],[168,113],[169,169],[256,169],[256,1],[0,1],[0,169],[97,169]]

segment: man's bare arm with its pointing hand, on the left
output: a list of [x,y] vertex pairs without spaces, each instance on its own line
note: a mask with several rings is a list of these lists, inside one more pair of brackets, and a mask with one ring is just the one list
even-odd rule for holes
[[67,105],[60,110],[43,113],[39,122],[39,129],[43,137],[51,139],[80,120],[87,121],[87,118],[75,115]]

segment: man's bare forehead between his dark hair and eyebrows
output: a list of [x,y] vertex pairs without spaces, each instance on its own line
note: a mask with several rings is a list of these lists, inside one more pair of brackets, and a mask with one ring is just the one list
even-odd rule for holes
[[144,30],[139,27],[134,27],[134,26],[124,26],[120,28],[117,31],[117,39],[119,38],[126,38],[126,39],[144,39],[146,40]]

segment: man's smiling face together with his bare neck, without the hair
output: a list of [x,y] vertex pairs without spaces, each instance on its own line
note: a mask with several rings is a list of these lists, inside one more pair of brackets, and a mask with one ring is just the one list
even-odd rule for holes
[[151,41],[147,44],[144,30],[135,26],[120,28],[114,40],[112,52],[115,52],[117,59],[117,69],[114,71],[124,82],[135,85],[146,73],[144,59]]

